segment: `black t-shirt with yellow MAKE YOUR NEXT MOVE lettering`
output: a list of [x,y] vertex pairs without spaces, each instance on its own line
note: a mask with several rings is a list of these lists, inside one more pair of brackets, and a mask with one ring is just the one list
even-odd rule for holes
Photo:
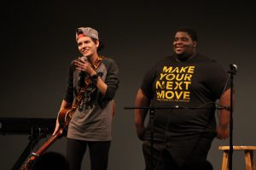
[[[228,74],[201,54],[180,62],[168,56],[145,75],[141,89],[158,108],[154,114],[154,139],[183,140],[216,132],[215,104],[229,88]],[[177,108],[177,109],[175,109]],[[144,138],[150,139],[150,124]]]

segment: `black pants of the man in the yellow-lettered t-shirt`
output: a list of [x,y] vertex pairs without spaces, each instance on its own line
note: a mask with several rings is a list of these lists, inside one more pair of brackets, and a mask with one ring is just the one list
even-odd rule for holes
[[212,170],[207,154],[212,137],[189,139],[186,141],[154,141],[153,167],[151,166],[150,141],[143,142],[146,170]]

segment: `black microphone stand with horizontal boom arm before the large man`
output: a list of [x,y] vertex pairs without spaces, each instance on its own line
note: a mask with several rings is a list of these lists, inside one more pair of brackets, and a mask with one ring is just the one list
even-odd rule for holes
[[[150,124],[150,169],[153,170],[154,166],[154,115],[155,115],[155,110],[162,110],[162,109],[212,109],[212,107],[182,107],[179,105],[171,106],[171,107],[154,107],[154,106],[141,106],[141,107],[124,107],[125,110],[135,110],[135,109],[146,109],[149,110],[149,124]],[[225,106],[220,106],[220,107],[215,107],[215,109],[218,110],[223,110],[227,109]]]

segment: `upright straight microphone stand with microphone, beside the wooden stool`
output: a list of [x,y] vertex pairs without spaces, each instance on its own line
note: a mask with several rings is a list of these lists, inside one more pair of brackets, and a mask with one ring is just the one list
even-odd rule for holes
[[230,64],[230,152],[229,152],[229,169],[232,170],[233,160],[233,76],[236,75],[237,66]]

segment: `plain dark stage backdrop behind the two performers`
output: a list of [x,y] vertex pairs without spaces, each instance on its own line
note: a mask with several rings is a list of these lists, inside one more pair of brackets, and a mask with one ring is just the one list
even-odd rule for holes
[[[179,26],[195,28],[201,54],[218,60],[227,71],[230,63],[238,65],[234,144],[255,145],[255,9],[244,1],[6,2],[1,5],[1,117],[56,117],[65,93],[68,65],[79,56],[75,30],[80,26],[96,28],[106,47],[101,54],[119,65],[108,169],[144,168],[133,111],[124,107],[134,105],[144,72],[161,57],[172,54],[172,33]],[[28,141],[25,135],[0,135],[0,168],[10,169]],[[212,143],[208,160],[214,169],[221,167],[223,153],[218,145],[223,144],[229,144],[229,140],[215,139]],[[65,154],[65,147],[63,138],[49,150]],[[84,169],[90,167],[88,157],[86,153]],[[243,152],[235,151],[233,160],[234,170],[245,168]]]

